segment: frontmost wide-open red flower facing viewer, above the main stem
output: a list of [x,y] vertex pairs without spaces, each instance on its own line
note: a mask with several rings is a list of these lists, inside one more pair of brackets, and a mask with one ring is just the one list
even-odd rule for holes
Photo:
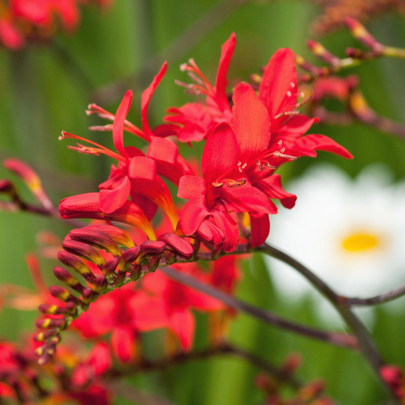
[[277,212],[268,197],[238,171],[239,154],[236,137],[229,125],[219,124],[204,148],[203,179],[183,176],[177,194],[190,199],[181,213],[184,233],[192,235],[201,223],[205,223],[211,234],[215,231],[221,235],[225,252],[234,250],[239,240],[238,226],[229,212]]

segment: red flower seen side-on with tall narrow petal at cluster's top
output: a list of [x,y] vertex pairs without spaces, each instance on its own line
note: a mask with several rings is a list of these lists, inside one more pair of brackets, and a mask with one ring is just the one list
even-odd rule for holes
[[196,84],[184,84],[188,92],[205,94],[205,105],[199,103],[187,103],[182,107],[171,107],[168,112],[172,115],[165,117],[166,121],[180,124],[177,129],[177,137],[181,142],[200,141],[208,136],[215,125],[227,122],[231,118],[231,107],[226,94],[226,73],[236,45],[236,35],[232,32],[229,39],[222,46],[221,58],[212,86],[207,78],[201,73],[193,59],[181,65],[180,69],[187,71]]

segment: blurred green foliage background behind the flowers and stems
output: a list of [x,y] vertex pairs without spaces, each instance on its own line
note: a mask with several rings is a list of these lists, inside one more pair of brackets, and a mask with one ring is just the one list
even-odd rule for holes
[[[128,117],[139,125],[141,92],[164,59],[169,60],[169,68],[152,99],[151,126],[161,123],[167,107],[192,100],[192,96],[174,85],[175,78],[188,81],[179,71],[180,63],[192,57],[207,77],[214,80],[221,45],[232,31],[236,32],[237,46],[228,73],[230,82],[239,77],[248,79],[249,74],[259,72],[260,66],[280,47],[289,47],[314,62],[305,47],[305,40],[313,37],[311,22],[319,13],[313,2],[284,0],[238,5],[214,0],[115,0],[109,10],[100,12],[96,7],[87,7],[82,11],[82,22],[72,35],[59,34],[52,44],[28,46],[14,53],[0,49],[0,157],[25,160],[41,175],[55,201],[67,195],[96,191],[98,183],[108,176],[112,163],[103,156],[68,150],[68,141],[58,141],[60,132],[65,130],[112,146],[109,133],[87,130],[90,125],[103,124],[101,119],[85,114],[87,105],[97,102],[114,111],[125,91],[132,88],[134,101]],[[403,15],[377,16],[368,28],[383,44],[405,47]],[[179,37],[182,42],[176,42]],[[341,57],[346,47],[358,46],[347,31],[316,39]],[[384,59],[364,63],[350,73],[359,74],[360,89],[376,111],[405,124],[404,71],[405,62]],[[287,165],[282,172],[285,180],[321,160],[332,161],[352,176],[376,161],[387,164],[396,179],[405,175],[405,143],[401,140],[360,124],[319,125],[314,132],[332,137],[355,158],[344,160],[321,152],[316,160],[302,158]],[[128,135],[125,142],[131,141]],[[16,176],[0,168],[2,177],[13,179],[29,198]],[[45,229],[60,237],[68,231],[63,224],[46,218],[0,212],[2,282],[32,287],[24,254],[37,250],[35,235]],[[53,264],[43,261],[49,283],[54,282]],[[289,319],[321,327],[310,305],[296,307],[278,301],[259,255],[243,267],[245,276],[239,297]],[[22,331],[33,330],[36,313],[5,308],[0,316],[1,337],[15,340]],[[379,312],[373,330],[386,360],[402,366],[405,366],[404,321],[405,311],[402,316]],[[198,316],[197,333],[204,334],[204,329],[205,318]],[[279,331],[245,315],[239,315],[234,322],[230,340],[275,364],[291,351],[302,353],[299,377],[325,378],[326,392],[339,403],[372,404],[384,397],[369,366],[348,350]],[[204,339],[197,338],[196,345],[203,344]],[[256,373],[257,369],[241,360],[216,358],[138,376],[130,383],[179,404],[241,405],[257,403],[260,398],[253,385]],[[129,402],[118,396],[116,403]]]

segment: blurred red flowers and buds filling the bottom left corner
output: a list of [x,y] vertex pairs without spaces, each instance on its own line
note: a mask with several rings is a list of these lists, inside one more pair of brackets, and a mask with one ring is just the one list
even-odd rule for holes
[[[76,403],[108,405],[112,395],[99,381],[104,369],[105,355],[95,346],[90,352],[82,352],[76,345],[62,345],[57,358],[47,370],[38,366],[32,347],[19,348],[15,344],[0,341],[0,400],[2,403]],[[97,355],[97,357],[95,356]],[[80,357],[84,357],[80,360]],[[93,360],[93,361],[91,361]],[[85,369],[92,379],[83,387],[80,371]],[[70,374],[72,369],[73,374]],[[62,383],[63,381],[63,383]],[[59,382],[59,384],[58,384]],[[50,389],[52,387],[52,389]]]

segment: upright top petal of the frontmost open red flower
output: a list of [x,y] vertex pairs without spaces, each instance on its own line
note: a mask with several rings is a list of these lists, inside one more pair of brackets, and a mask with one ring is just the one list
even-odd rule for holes
[[238,152],[236,138],[229,125],[218,124],[209,135],[201,158],[201,170],[206,183],[211,183],[236,170]]

